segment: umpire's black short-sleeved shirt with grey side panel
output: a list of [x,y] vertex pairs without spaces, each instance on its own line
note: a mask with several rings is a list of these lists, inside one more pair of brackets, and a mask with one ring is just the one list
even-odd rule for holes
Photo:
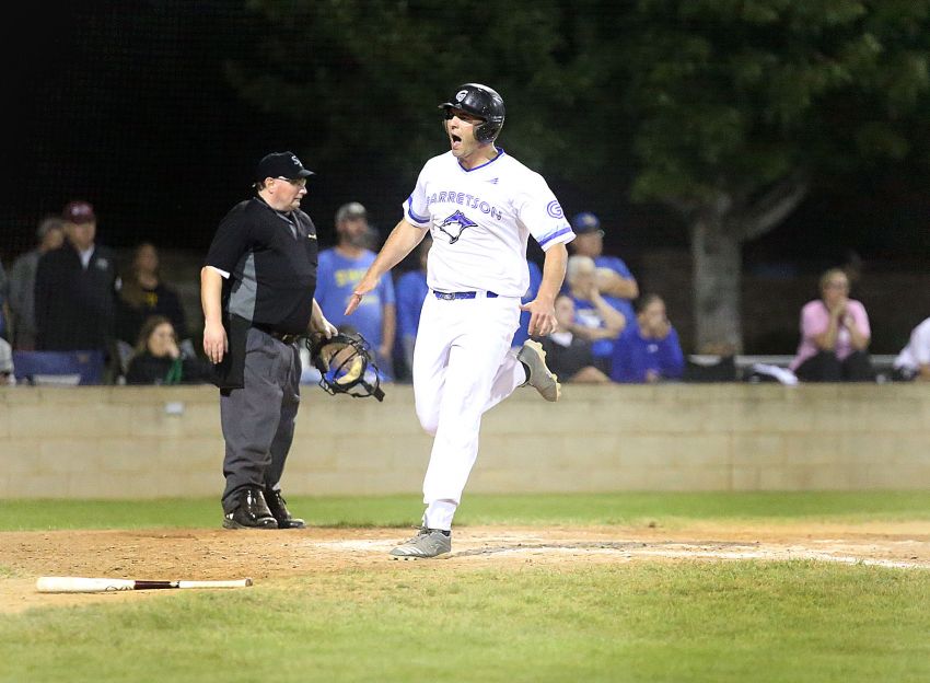
[[206,265],[230,274],[225,313],[283,334],[306,334],[316,290],[316,228],[297,209],[260,197],[234,206],[220,223]]

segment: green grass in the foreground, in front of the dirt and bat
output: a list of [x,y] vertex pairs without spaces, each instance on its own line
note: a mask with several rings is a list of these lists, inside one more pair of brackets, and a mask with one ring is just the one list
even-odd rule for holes
[[0,681],[928,681],[928,577],[405,563],[0,615]]

